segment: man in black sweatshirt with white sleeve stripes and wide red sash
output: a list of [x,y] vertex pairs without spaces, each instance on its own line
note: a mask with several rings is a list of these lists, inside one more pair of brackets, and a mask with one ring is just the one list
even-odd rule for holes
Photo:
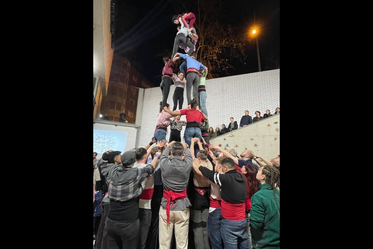
[[216,173],[203,166],[199,166],[198,169],[210,181],[220,186],[222,205],[220,231],[224,248],[248,249],[245,177],[235,169],[232,158],[223,159],[222,166],[225,174]]

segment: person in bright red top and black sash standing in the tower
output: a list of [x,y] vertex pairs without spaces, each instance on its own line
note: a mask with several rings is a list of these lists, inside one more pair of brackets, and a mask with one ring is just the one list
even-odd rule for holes
[[[197,100],[193,99],[191,101],[191,108],[189,109],[181,109],[180,111],[170,111],[170,109],[163,108],[164,111],[170,113],[173,116],[177,115],[186,115],[186,127],[184,131],[184,140],[185,143],[191,147],[192,138],[198,137],[202,138],[201,136],[201,128],[200,122],[207,120],[207,116],[201,111],[197,110]],[[194,143],[193,145],[194,146]]]

